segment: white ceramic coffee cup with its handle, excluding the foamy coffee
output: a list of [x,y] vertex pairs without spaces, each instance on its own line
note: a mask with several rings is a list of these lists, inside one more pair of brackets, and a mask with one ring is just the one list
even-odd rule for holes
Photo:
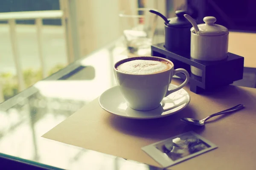
[[[153,74],[128,74],[117,70],[122,63],[132,60],[154,60],[166,62],[169,68]],[[113,67],[116,83],[128,105],[139,111],[148,111],[160,106],[160,102],[169,94],[180,90],[189,82],[189,73],[183,69],[174,69],[174,64],[161,57],[131,57],[122,59]],[[186,80],[178,87],[168,90],[172,77],[177,73],[186,75]]]

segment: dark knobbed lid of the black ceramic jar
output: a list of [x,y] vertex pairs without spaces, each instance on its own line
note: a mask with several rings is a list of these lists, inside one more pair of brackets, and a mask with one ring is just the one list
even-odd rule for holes
[[184,17],[186,11],[175,11],[177,17],[168,18],[169,23],[168,27],[175,27],[175,28],[183,28],[183,27],[191,27],[191,23]]

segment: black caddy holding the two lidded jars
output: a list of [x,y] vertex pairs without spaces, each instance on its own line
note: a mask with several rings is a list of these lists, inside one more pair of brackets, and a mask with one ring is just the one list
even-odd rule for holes
[[[228,53],[227,59],[221,61],[199,61],[192,59],[188,51],[168,51],[164,43],[160,43],[151,45],[151,55],[171,60],[175,69],[186,69],[190,74],[190,91],[196,94],[212,91],[243,79],[244,57],[236,54]],[[202,70],[202,77],[191,73],[191,65]],[[177,76],[186,79],[184,74],[178,73]]]

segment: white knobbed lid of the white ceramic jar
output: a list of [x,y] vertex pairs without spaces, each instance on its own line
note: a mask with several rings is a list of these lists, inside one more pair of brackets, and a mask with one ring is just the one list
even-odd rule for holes
[[[199,24],[198,35],[223,35],[228,33],[228,29],[224,26],[215,24],[215,17],[204,17],[205,24]],[[193,31],[194,28],[191,28]]]

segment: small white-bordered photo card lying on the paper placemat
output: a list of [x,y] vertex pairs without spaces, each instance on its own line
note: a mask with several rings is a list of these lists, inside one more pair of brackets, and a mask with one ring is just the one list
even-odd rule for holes
[[217,148],[215,144],[191,131],[141,149],[166,168],[215,148]]

